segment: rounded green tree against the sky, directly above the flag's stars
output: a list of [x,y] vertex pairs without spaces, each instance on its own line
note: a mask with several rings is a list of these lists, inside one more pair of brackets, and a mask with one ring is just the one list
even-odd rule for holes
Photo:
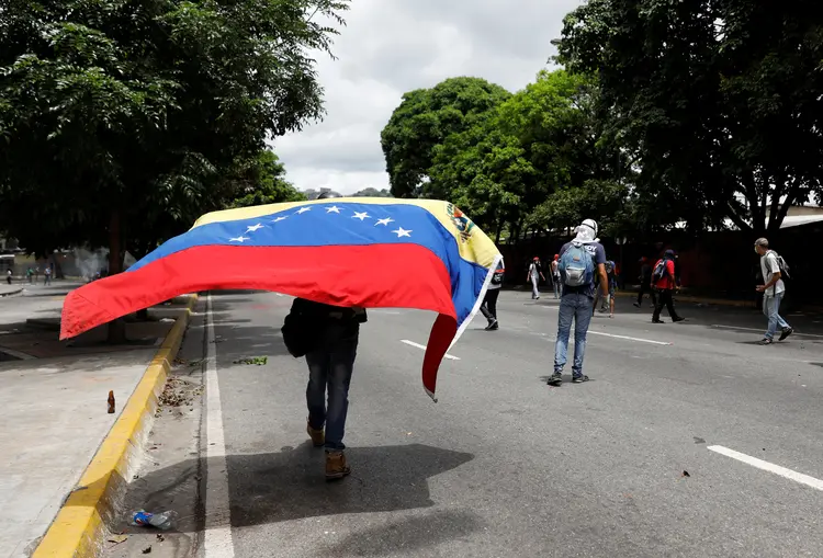
[[392,195],[418,197],[429,180],[435,147],[494,113],[510,93],[480,78],[450,78],[403,95],[381,133]]

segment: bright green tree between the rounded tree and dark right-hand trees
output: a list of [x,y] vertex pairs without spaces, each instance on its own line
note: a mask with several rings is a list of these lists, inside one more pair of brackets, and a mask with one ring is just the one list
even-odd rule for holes
[[[596,95],[586,76],[541,71],[493,116],[436,146],[424,193],[455,201],[498,238],[507,226],[514,238],[523,227],[556,226],[565,217],[541,208],[555,192],[630,174],[627,156],[599,124]],[[610,204],[588,191],[578,197],[602,202],[598,215]]]

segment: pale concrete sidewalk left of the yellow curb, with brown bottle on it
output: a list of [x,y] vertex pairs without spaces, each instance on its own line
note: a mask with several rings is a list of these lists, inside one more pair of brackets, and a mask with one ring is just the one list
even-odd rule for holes
[[0,558],[32,555],[189,308],[182,300],[127,323],[123,345],[104,343],[105,327],[60,342],[61,298],[45,287],[0,301]]

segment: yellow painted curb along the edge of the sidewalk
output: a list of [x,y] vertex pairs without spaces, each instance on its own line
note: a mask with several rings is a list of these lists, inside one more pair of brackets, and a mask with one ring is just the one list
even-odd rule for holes
[[117,511],[114,504],[128,483],[131,458],[148,433],[157,398],[180,350],[196,300],[198,295],[192,295],[185,311],[174,321],[33,558],[87,558],[100,554],[105,525]]

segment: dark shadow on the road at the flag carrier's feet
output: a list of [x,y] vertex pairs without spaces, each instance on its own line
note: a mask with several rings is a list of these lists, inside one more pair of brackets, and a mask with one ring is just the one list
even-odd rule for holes
[[[436,502],[431,500],[428,479],[474,458],[473,454],[422,444],[350,447],[346,455],[352,475],[334,482],[325,479],[323,449],[313,447],[307,441],[275,453],[229,455],[225,465],[222,460],[187,459],[143,472],[139,478],[131,480],[128,490],[145,494],[140,508],[173,510],[181,490],[190,491],[200,485],[201,493],[205,493],[208,471],[226,469],[230,525],[247,527],[306,517],[430,508]],[[450,529],[459,533],[477,525],[476,519],[470,516],[455,515],[452,520],[444,535]],[[218,526],[225,526],[225,517],[183,516],[176,531],[188,533]],[[111,528],[114,532],[140,532],[139,527],[129,526],[125,516]],[[418,540],[415,544],[424,543]],[[368,542],[363,542],[364,551],[369,547]],[[376,549],[376,546],[372,548]]]

